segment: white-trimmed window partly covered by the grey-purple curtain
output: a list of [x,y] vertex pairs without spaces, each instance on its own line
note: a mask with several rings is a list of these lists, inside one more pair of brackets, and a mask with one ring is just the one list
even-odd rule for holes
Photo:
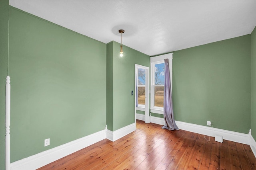
[[150,63],[151,63],[150,112],[152,113],[163,114],[163,110],[164,110],[164,59],[169,59],[170,75],[172,76],[172,53],[150,58]]

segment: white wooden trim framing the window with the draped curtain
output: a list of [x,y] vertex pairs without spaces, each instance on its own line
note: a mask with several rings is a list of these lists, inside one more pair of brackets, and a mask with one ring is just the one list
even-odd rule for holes
[[[160,55],[157,57],[150,57],[150,73],[151,73],[151,98],[150,98],[150,112],[151,113],[158,113],[158,114],[164,114],[164,107],[157,107],[154,106],[154,64],[160,64],[164,63],[164,59],[169,59],[169,66],[172,66],[172,54],[165,54]],[[172,67],[170,68],[170,79],[171,79],[171,86],[172,86]]]

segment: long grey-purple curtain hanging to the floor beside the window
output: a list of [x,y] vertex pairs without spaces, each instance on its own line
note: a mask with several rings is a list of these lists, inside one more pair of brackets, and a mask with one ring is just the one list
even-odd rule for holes
[[169,59],[164,59],[164,121],[162,129],[179,130],[175,123],[172,108],[172,90],[169,71]]

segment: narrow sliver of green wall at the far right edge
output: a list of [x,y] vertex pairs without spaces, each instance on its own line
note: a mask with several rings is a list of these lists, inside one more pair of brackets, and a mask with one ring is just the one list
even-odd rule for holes
[[256,139],[256,27],[251,34],[251,64],[252,64],[252,98],[251,98],[251,129],[252,137]]

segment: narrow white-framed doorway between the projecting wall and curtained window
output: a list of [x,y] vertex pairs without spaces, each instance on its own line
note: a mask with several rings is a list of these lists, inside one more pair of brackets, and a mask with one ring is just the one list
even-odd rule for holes
[[136,115],[140,115],[140,120],[145,123],[150,123],[149,67],[139,64],[135,64],[135,122]]

